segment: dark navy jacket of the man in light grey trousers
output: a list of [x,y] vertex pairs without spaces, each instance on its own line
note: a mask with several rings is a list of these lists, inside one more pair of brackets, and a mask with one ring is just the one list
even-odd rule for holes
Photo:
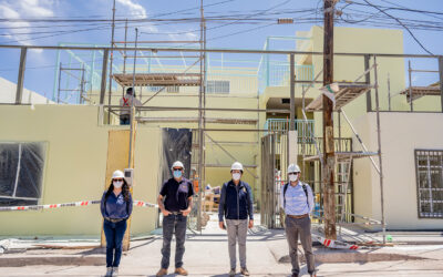
[[229,181],[223,184],[220,204],[218,206],[218,220],[226,219],[254,219],[253,192],[248,183],[240,181],[238,186]]

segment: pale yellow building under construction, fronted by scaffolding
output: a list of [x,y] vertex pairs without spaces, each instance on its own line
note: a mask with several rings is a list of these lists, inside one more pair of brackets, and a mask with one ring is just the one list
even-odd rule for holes
[[[336,28],[334,35],[329,89],[337,223],[441,228],[435,219],[443,218],[443,57],[404,54],[399,30]],[[168,163],[181,158],[198,188],[190,226],[200,230],[212,211],[207,202],[214,202],[209,187],[229,179],[230,164],[239,161],[261,224],[277,228],[286,168],[298,163],[321,222],[322,47],[319,27],[269,37],[262,50],[206,49],[203,38],[60,43],[45,48],[54,51],[56,69],[45,80],[53,90],[40,92],[52,96],[38,104],[23,98],[29,48],[1,45],[20,49],[21,59],[13,99],[0,109],[2,119],[13,114],[0,122],[0,203],[95,199],[114,170],[128,167],[134,198],[154,203]],[[420,59],[435,60],[436,68],[414,68]],[[411,75],[424,72],[434,81],[414,85]],[[133,107],[131,125],[120,125],[127,88],[135,88],[142,105]],[[96,207],[4,212],[0,218],[9,222],[0,235],[97,235],[101,228]],[[134,211],[132,234],[157,226],[156,209]]]

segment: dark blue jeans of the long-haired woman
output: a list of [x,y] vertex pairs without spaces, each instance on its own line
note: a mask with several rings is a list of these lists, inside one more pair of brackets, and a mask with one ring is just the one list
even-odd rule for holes
[[122,258],[122,242],[126,230],[126,220],[112,223],[104,219],[103,230],[106,237],[106,267],[119,267]]

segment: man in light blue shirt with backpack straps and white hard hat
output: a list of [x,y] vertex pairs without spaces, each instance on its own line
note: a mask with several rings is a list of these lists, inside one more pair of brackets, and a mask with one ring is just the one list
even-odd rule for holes
[[281,206],[285,209],[285,232],[289,245],[289,256],[292,264],[292,277],[298,277],[298,237],[305,250],[308,273],[316,276],[316,264],[312,253],[311,219],[309,214],[313,209],[312,189],[300,181],[300,167],[297,164],[288,166],[289,182],[282,187],[280,194]]

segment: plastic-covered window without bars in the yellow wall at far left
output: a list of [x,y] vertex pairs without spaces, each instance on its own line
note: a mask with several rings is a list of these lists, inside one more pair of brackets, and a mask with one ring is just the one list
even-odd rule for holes
[[44,154],[44,143],[0,143],[0,206],[38,204]]

